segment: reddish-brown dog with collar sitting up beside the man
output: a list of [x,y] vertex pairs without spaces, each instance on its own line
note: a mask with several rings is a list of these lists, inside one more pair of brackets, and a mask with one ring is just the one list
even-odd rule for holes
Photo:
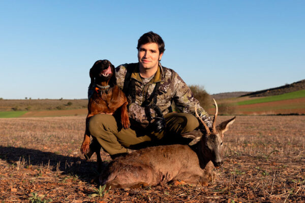
[[128,117],[127,98],[122,90],[116,85],[114,65],[108,60],[98,60],[90,69],[90,86],[94,88],[94,93],[88,101],[88,115],[86,118],[86,129],[84,140],[81,145],[81,152],[86,158],[90,158],[94,152],[97,153],[98,167],[100,170],[102,159],[100,155],[101,146],[95,140],[90,144],[90,132],[88,121],[96,114],[113,114],[120,108],[120,119],[122,126],[127,129],[130,126]]

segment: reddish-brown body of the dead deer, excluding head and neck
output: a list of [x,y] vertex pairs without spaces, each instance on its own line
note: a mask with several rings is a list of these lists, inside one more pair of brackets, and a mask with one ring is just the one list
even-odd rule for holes
[[175,180],[207,185],[214,166],[199,162],[196,152],[187,145],[148,147],[109,163],[100,182],[112,188],[155,186]]

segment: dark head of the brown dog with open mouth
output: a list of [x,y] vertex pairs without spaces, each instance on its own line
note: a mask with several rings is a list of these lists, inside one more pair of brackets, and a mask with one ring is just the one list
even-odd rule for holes
[[96,61],[89,72],[91,84],[107,82],[110,86],[116,84],[114,65],[109,60]]

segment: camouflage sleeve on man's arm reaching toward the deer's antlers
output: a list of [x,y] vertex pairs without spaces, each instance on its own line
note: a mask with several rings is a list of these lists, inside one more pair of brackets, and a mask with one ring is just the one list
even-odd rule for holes
[[174,76],[175,95],[174,101],[176,107],[184,113],[190,113],[195,116],[195,105],[197,104],[197,113],[206,125],[211,128],[212,120],[207,112],[200,106],[199,101],[194,98],[194,95],[188,85],[176,74]]

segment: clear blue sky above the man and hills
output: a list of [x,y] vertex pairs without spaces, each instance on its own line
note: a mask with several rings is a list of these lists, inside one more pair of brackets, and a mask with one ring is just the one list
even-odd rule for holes
[[165,41],[162,65],[210,94],[305,79],[305,1],[0,1],[0,97],[86,98],[99,59],[137,62],[137,40]]

